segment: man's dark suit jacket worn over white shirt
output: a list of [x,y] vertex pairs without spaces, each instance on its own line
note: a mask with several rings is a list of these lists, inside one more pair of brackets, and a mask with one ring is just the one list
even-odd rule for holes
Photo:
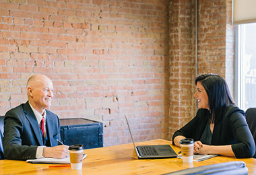
[[[60,139],[59,118],[46,110],[46,131],[51,147]],[[30,104],[21,104],[5,114],[3,149],[6,159],[36,158],[36,149],[43,145],[42,133]]]

